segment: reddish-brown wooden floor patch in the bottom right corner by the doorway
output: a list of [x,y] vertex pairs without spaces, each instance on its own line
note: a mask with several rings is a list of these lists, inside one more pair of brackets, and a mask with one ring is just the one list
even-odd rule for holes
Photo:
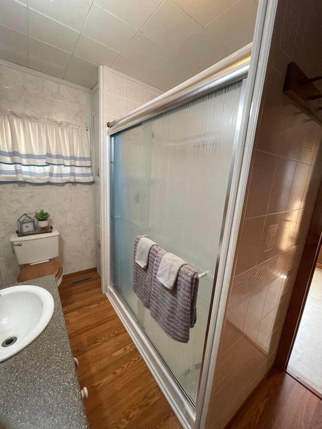
[[272,369],[227,429],[321,429],[322,400],[286,372]]

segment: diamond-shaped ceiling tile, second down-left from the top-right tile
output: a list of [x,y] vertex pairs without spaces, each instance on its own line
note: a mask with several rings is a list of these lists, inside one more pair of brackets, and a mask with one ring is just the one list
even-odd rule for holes
[[152,71],[162,74],[169,83],[173,83],[190,74],[193,71],[193,66],[177,55],[171,54],[157,64]]

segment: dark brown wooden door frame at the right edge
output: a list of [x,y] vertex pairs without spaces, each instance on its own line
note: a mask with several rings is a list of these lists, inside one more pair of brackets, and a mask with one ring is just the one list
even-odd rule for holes
[[294,283],[274,365],[286,370],[290,359],[299,324],[304,311],[316,261],[322,244],[322,181],[308,228],[304,250]]

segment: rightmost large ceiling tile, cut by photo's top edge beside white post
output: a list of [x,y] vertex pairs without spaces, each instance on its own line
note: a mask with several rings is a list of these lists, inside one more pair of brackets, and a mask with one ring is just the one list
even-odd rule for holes
[[254,0],[238,0],[211,21],[205,30],[228,49],[232,49],[253,37],[256,14],[257,5]]

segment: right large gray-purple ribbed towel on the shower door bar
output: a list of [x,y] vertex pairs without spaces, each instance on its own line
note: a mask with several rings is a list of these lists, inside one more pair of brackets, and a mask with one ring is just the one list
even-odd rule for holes
[[[152,247],[153,248],[153,247]],[[198,272],[189,265],[181,267],[175,287],[165,288],[156,280],[160,262],[166,251],[157,252],[153,265],[150,314],[158,325],[173,339],[188,342],[190,328],[197,319]]]

